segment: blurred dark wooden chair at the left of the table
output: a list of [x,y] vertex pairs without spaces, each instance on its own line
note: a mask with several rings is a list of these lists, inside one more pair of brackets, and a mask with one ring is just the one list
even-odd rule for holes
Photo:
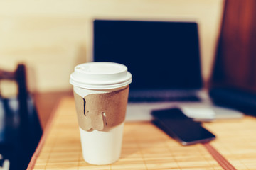
[[[18,64],[14,72],[0,69],[1,80],[16,81],[18,94],[16,98],[2,98],[0,93],[6,121],[5,138],[0,143],[0,154],[10,160],[10,169],[26,169],[42,135],[33,98],[27,90],[26,66]],[[10,106],[11,100],[18,103],[18,107]]]

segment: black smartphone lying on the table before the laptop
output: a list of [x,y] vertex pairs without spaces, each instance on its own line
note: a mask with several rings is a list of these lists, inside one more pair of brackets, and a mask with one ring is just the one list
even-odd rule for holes
[[215,135],[188,118],[179,108],[152,111],[153,123],[173,137],[181,145],[209,142]]

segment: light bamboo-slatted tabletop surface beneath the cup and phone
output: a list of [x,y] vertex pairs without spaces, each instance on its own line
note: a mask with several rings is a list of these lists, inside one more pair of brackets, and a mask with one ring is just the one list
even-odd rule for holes
[[[203,124],[215,133],[210,144],[236,169],[256,169],[256,119]],[[28,169],[223,169],[201,144],[181,146],[149,122],[125,123],[122,154],[105,166],[82,159],[73,97],[60,100]]]

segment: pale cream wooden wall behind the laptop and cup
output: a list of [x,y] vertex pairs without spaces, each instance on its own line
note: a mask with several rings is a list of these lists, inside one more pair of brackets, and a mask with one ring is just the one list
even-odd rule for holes
[[223,0],[0,1],[0,68],[24,62],[31,91],[70,90],[73,67],[92,54],[93,19],[196,21],[208,81],[222,14]]

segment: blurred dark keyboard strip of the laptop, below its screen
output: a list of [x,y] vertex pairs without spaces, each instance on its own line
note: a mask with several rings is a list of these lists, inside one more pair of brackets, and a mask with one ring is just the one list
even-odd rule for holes
[[165,101],[201,101],[196,94],[177,94],[170,92],[151,91],[142,93],[130,93],[129,102],[165,102]]

